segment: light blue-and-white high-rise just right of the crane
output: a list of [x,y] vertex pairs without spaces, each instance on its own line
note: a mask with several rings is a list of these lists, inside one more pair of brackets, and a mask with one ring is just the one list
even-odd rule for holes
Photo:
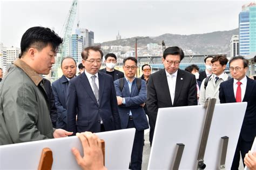
[[70,43],[70,56],[76,60],[77,64],[82,63],[81,53],[83,51],[83,36],[72,34]]

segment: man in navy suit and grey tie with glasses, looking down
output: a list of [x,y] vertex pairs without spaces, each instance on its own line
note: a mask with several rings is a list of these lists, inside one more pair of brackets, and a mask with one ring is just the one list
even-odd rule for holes
[[113,79],[108,74],[98,72],[102,57],[99,47],[86,47],[82,52],[85,70],[69,82],[68,130],[74,134],[120,129]]

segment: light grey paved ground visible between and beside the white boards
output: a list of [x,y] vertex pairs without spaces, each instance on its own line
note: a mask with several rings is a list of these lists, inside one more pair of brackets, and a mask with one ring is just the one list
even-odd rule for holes
[[[144,139],[145,139],[145,145],[143,148],[143,162],[142,162],[142,170],[147,169],[147,165],[149,164],[149,157],[150,157],[150,142],[149,142],[149,130],[145,130],[144,132]],[[244,169],[242,165],[242,160],[240,160],[240,167],[239,170]]]

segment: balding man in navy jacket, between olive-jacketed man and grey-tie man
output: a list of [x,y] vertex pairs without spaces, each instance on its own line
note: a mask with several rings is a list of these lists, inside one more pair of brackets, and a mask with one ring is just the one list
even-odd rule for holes
[[52,83],[52,91],[55,97],[55,106],[57,108],[56,127],[66,130],[66,95],[69,86],[69,80],[76,76],[76,61],[72,57],[62,59],[61,68],[63,76]]

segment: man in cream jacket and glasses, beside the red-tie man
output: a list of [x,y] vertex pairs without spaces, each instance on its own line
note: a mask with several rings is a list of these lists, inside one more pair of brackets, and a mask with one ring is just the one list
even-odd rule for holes
[[[228,75],[224,72],[227,65],[227,58],[224,56],[215,56],[211,60],[212,75],[210,78],[205,78],[201,83],[199,93],[199,105],[204,105],[207,98],[215,98],[216,104],[220,103],[219,87],[220,83],[228,79]],[[205,86],[205,81],[208,81]]]

